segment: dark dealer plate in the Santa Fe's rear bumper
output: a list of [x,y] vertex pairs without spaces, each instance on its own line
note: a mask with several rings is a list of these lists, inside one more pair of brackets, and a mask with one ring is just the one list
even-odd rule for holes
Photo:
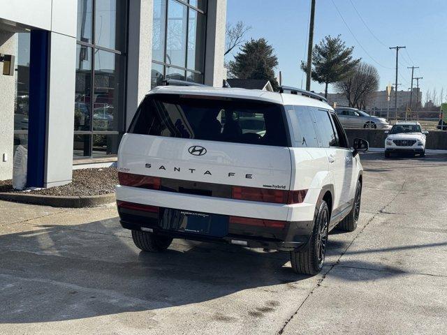
[[166,230],[223,237],[228,233],[228,216],[165,209],[160,226]]

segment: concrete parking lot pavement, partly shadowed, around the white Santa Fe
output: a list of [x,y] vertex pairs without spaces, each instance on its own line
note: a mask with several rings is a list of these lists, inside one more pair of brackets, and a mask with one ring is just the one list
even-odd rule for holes
[[0,333],[445,334],[447,155],[382,155],[314,277],[238,246],[140,253],[113,206],[0,202]]

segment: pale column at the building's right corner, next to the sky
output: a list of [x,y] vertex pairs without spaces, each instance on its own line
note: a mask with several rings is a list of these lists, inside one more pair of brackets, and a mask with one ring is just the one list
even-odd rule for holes
[[208,0],[205,84],[222,87],[225,52],[226,0]]

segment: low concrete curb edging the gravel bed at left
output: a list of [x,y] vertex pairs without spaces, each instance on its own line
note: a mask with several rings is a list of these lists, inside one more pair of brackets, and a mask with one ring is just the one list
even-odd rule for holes
[[78,196],[78,197],[58,197],[55,195],[21,194],[0,192],[0,200],[23,202],[25,204],[41,204],[52,207],[96,207],[102,204],[115,202],[115,193]]

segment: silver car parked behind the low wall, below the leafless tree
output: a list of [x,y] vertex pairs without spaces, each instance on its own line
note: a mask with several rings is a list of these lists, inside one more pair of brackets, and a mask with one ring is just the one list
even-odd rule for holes
[[351,107],[337,107],[335,108],[340,122],[344,128],[373,128],[373,129],[390,129],[386,119],[381,117],[373,117],[368,113]]

